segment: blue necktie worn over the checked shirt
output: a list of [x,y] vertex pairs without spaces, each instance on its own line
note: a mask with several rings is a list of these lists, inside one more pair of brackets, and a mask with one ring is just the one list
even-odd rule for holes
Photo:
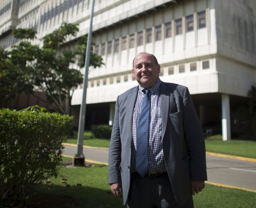
[[150,115],[149,90],[145,90],[136,133],[136,171],[142,177],[148,172],[148,126]]

